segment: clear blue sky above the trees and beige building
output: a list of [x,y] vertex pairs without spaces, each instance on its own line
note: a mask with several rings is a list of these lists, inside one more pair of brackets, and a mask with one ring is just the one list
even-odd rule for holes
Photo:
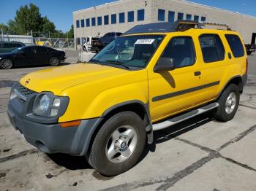
[[[113,0],[0,0],[0,23],[7,24],[8,20],[14,19],[15,12],[20,6],[33,3],[39,7],[42,17],[47,16],[53,21],[57,30],[69,31],[72,25],[72,12],[112,1]],[[190,1],[256,17],[256,0]]]

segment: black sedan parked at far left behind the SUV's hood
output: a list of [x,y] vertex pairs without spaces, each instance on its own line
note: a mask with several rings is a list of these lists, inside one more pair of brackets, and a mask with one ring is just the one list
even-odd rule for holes
[[12,69],[14,66],[39,66],[49,64],[58,66],[65,60],[65,52],[50,47],[18,47],[12,52],[0,53],[0,69]]

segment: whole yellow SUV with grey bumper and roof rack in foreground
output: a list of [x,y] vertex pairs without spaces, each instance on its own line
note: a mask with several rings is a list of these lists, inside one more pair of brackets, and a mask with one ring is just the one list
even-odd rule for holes
[[85,156],[113,176],[138,162],[154,130],[210,110],[232,120],[247,65],[236,31],[184,20],[135,26],[88,63],[20,79],[8,114],[42,152]]

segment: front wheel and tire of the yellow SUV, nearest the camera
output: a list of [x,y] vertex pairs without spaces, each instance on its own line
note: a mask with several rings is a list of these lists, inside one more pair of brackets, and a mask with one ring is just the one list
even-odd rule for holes
[[120,112],[110,117],[97,133],[89,164],[105,176],[124,173],[138,163],[145,144],[143,120],[134,112]]

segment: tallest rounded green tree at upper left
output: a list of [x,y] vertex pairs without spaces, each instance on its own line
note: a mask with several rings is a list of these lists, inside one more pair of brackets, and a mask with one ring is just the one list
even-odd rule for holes
[[16,12],[15,24],[18,34],[27,34],[28,31],[40,31],[42,29],[42,17],[39,7],[34,4],[21,6]]

